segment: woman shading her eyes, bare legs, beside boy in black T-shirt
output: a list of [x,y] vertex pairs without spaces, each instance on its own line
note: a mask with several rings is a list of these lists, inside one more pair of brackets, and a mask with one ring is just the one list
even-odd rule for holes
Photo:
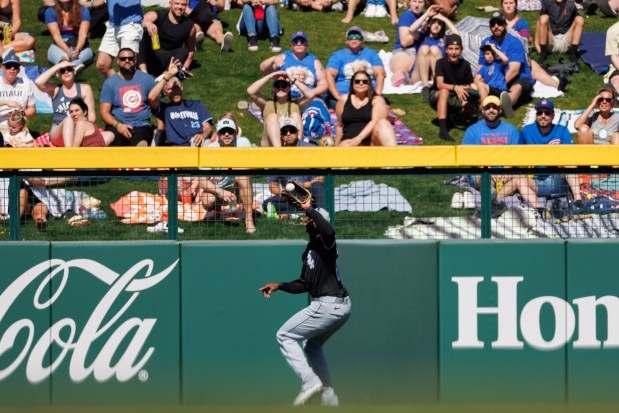
[[430,96],[430,80],[434,80],[436,62],[445,54],[445,30],[449,28],[452,34],[460,35],[456,26],[440,13],[434,14],[428,21],[426,33],[417,51],[417,62],[413,82],[417,77],[421,80],[423,89],[421,94],[427,100]]

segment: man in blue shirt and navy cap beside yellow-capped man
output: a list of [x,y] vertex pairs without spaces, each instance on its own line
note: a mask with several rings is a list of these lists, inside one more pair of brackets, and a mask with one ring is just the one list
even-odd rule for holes
[[[520,132],[522,143],[529,145],[571,145],[572,135],[563,125],[555,125],[555,105],[551,100],[543,99],[535,105],[535,123],[525,126]],[[535,208],[541,217],[549,218],[544,203],[538,197],[548,198],[567,193],[568,186],[574,197],[574,205],[582,208],[578,175],[535,175],[533,178],[522,176],[517,183],[522,199]]]

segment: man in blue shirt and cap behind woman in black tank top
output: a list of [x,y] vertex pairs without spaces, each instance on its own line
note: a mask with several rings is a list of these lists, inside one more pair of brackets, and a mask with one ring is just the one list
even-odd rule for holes
[[365,70],[373,77],[372,83],[377,94],[383,93],[385,68],[376,50],[363,47],[363,30],[353,26],[346,31],[346,48],[335,51],[327,61],[327,83],[329,94],[327,104],[334,108],[341,95],[348,94],[350,79]]

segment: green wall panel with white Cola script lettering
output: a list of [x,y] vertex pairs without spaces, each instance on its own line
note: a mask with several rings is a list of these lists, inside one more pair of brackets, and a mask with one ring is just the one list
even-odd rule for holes
[[31,404],[178,403],[178,244],[45,245],[0,249],[0,392],[19,403],[15,389],[41,389]]

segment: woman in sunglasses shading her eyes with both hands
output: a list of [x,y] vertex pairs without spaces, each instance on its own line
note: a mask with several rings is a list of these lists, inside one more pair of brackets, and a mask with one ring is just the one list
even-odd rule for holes
[[[260,93],[260,90],[269,81],[273,80],[272,96],[268,97]],[[296,85],[303,94],[300,99],[292,98],[291,86]],[[284,71],[272,72],[252,83],[247,88],[247,94],[262,111],[264,129],[260,146],[281,146],[279,135],[279,122],[283,118],[292,118],[297,125],[303,124],[301,109],[308,105],[314,98],[314,92],[303,82],[295,79],[290,82],[288,74]]]

